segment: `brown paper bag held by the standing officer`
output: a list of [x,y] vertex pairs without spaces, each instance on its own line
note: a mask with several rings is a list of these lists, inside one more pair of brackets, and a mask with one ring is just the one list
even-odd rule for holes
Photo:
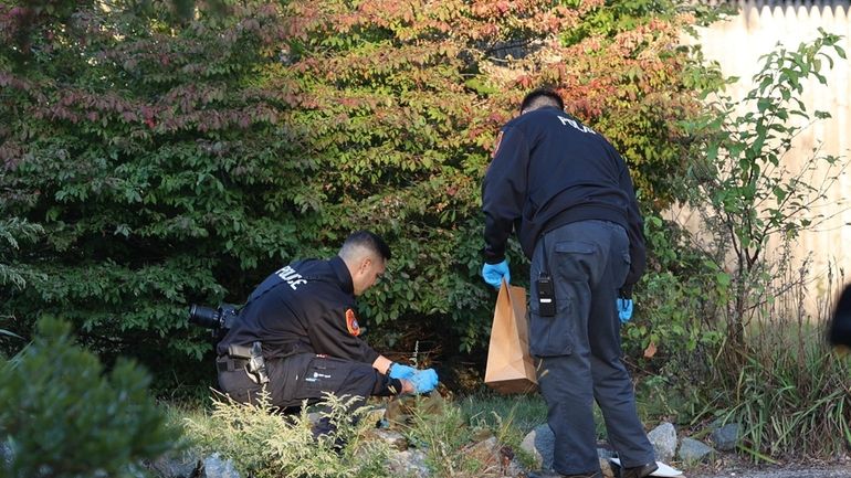
[[527,393],[537,387],[529,355],[526,289],[503,280],[491,328],[484,383],[500,393]]

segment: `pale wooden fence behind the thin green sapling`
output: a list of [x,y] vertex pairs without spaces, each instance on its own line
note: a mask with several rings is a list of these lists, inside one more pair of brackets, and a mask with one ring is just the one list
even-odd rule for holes
[[[726,21],[701,29],[698,42],[707,59],[721,64],[725,76],[739,81],[727,91],[733,98],[742,98],[753,88],[750,78],[761,66],[759,57],[779,44],[796,50],[801,42],[811,42],[821,28],[844,36],[841,46],[851,54],[851,1],[739,1],[739,14]],[[851,61],[836,57],[830,71],[822,72],[827,86],[809,82],[801,98],[811,113],[828,111],[831,119],[807,130],[787,155],[789,168],[812,157],[812,148],[821,155],[851,161]],[[817,304],[823,304],[837,293],[839,282],[851,282],[851,166],[829,192],[831,205],[821,213],[833,216],[818,231],[805,233],[797,242],[795,256],[812,258],[807,309],[811,316],[822,315]],[[696,217],[680,212],[677,221],[694,225]],[[828,268],[833,269],[832,290]],[[844,277],[842,277],[844,275]]]

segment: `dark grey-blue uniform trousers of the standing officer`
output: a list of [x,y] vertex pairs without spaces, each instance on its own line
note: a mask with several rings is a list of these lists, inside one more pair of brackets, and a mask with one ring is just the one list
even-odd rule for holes
[[[538,384],[555,435],[553,467],[560,474],[599,470],[595,400],[621,464],[654,461],[621,361],[614,300],[629,261],[627,232],[608,221],[557,227],[538,240],[532,258],[529,350],[539,361]],[[554,284],[554,317],[539,314],[536,280],[542,272]]]

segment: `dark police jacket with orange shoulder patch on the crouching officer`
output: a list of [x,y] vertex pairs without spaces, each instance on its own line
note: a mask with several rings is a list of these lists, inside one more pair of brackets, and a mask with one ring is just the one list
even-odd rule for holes
[[266,359],[317,353],[372,363],[378,352],[358,337],[355,307],[351,275],[339,256],[295,262],[254,289],[217,351],[261,341]]

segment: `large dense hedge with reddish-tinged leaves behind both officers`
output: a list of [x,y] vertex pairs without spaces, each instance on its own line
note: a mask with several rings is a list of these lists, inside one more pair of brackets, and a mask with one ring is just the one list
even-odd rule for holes
[[369,340],[481,350],[481,178],[525,91],[559,88],[668,201],[655,184],[687,158],[673,118],[700,104],[679,47],[693,19],[656,3],[248,1],[178,23],[164,2],[4,3],[0,215],[44,234],[15,253],[33,278],[0,290],[0,315],[25,337],[61,314],[174,386],[210,352],[188,304],[239,304],[372,229],[395,258],[360,300]]

